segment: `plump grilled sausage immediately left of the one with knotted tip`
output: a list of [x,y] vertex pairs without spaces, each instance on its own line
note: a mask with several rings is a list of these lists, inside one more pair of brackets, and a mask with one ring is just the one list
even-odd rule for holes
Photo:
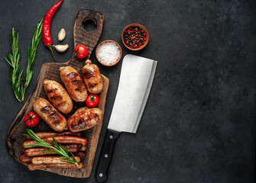
[[60,67],[60,79],[74,101],[86,101],[86,85],[76,69],[71,66]]

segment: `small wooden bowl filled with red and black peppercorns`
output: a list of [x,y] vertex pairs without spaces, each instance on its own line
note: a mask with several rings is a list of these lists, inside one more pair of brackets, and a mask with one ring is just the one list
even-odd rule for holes
[[129,24],[122,32],[122,42],[129,50],[141,50],[149,40],[147,29],[141,24]]

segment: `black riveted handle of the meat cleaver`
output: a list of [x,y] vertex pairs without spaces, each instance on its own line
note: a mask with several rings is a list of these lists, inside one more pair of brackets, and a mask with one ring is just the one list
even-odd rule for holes
[[115,145],[115,140],[118,138],[119,133],[108,130],[102,152],[99,156],[99,163],[96,169],[96,180],[99,182],[106,181],[108,179],[107,171],[112,158],[112,153]]

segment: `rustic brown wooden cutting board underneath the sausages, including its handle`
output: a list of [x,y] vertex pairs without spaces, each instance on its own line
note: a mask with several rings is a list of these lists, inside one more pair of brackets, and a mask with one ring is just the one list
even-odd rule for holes
[[[87,32],[84,29],[84,24],[86,21],[91,20],[96,24],[96,29],[90,32]],[[86,59],[89,59],[92,50],[96,47],[96,43],[99,41],[99,37],[102,34],[102,27],[104,22],[103,14],[100,14],[97,11],[92,10],[82,10],[79,11],[76,15],[76,21],[74,24],[74,43],[75,47],[78,44],[84,44],[88,48],[88,56]],[[7,149],[8,152],[13,156],[18,162],[20,161],[20,156],[23,154],[22,152],[22,143],[25,141],[25,137],[22,134],[26,133],[27,127],[24,124],[24,116],[28,114],[28,112],[33,111],[32,103],[37,98],[47,98],[47,95],[44,92],[43,80],[44,79],[53,79],[57,82],[61,82],[60,79],[60,71],[59,68],[61,66],[73,66],[79,73],[83,66],[85,65],[86,59],[77,59],[74,55],[67,63],[44,63],[41,67],[40,74],[37,78],[36,85],[34,86],[34,90],[31,92],[31,95],[28,98],[28,101],[24,104],[24,107],[19,112],[18,116],[15,118],[14,122],[11,124],[11,127],[8,130],[7,134]],[[92,61],[93,63],[93,61]],[[103,111],[105,109],[105,99],[109,89],[109,79],[102,75],[104,79],[104,88],[100,96],[99,108]],[[73,111],[70,114],[64,116],[66,119],[70,117],[76,111],[76,109],[85,106],[85,102],[75,102],[73,101]],[[86,158],[83,159],[83,169],[75,170],[75,169],[42,169],[47,172],[57,173],[59,175],[65,175],[76,178],[87,178],[91,174],[92,165],[96,155],[96,149],[99,141],[99,135],[102,129],[102,123],[98,124],[96,127],[93,127],[89,130],[83,131],[82,136],[88,140],[88,145],[86,149]],[[41,120],[37,127],[33,128],[34,132],[47,132],[53,131],[48,127],[48,125]],[[22,162],[21,162],[22,163]],[[23,163],[24,165],[28,165]],[[24,169],[26,169],[24,167]]]

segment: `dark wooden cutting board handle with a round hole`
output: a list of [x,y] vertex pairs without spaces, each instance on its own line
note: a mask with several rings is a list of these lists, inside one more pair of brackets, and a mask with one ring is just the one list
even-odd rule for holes
[[[92,31],[87,31],[85,29],[86,21],[93,21],[96,24],[96,29]],[[88,49],[88,55],[85,59],[78,59],[74,56],[71,57],[69,64],[77,65],[77,62],[85,63],[86,59],[89,59],[91,56],[92,50],[96,47],[96,44],[99,41],[99,37],[102,35],[102,27],[104,23],[103,14],[94,10],[81,10],[76,15],[76,21],[74,24],[74,47],[78,44],[83,44]]]

